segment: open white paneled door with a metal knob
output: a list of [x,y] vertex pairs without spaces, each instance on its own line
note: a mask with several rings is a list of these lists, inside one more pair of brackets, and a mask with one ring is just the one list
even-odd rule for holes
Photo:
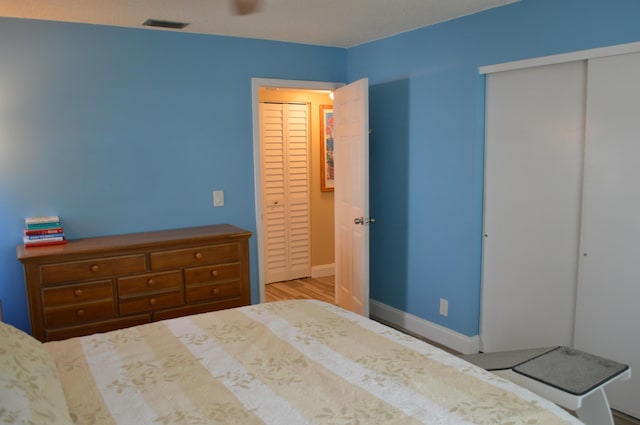
[[369,81],[334,92],[336,303],[369,316]]

